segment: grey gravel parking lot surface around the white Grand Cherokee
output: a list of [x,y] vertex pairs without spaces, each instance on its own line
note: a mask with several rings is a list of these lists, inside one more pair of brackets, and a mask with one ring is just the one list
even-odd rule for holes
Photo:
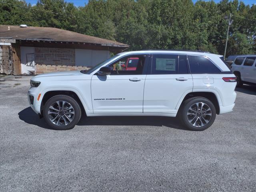
[[256,191],[255,87],[237,89],[234,111],[202,132],[164,117],[56,131],[29,107],[29,79],[0,82],[1,192]]

